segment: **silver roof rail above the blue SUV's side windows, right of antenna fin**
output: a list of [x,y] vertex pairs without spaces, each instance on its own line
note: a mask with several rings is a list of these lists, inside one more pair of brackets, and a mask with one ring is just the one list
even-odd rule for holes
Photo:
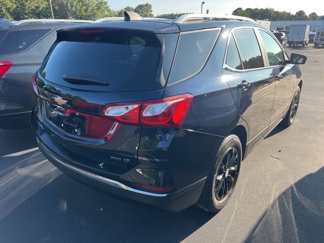
[[253,19],[235,15],[226,15],[226,14],[184,14],[178,17],[173,21],[173,23],[181,24],[181,23],[190,23],[190,22],[200,22],[205,21],[205,18],[211,19],[228,19],[228,20],[239,20],[239,21],[248,21],[256,23]]

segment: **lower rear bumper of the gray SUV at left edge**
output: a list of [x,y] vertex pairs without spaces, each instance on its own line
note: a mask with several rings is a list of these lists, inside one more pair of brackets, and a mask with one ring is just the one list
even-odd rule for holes
[[0,115],[1,129],[28,128],[30,126],[31,111]]

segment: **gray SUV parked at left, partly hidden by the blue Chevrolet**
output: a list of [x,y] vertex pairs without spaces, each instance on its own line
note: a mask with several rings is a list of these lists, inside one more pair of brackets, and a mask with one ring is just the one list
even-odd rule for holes
[[0,19],[0,128],[30,126],[30,80],[56,39],[56,30],[91,21]]

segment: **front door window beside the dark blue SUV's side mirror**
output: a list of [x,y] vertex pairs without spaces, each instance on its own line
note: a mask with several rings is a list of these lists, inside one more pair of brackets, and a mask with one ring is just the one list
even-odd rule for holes
[[285,62],[284,52],[282,52],[277,42],[265,31],[259,30],[263,45],[267,52],[269,66],[282,65]]

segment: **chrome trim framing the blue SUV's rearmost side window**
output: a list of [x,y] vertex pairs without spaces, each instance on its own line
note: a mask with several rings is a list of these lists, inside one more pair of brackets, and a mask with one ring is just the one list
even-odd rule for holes
[[[176,55],[177,55],[177,51],[178,51],[178,46],[179,46],[179,43],[180,43],[180,37],[181,37],[181,35],[182,34],[188,34],[188,33],[194,33],[194,32],[212,31],[212,30],[219,30],[219,32],[218,32],[218,34],[217,34],[217,36],[215,38],[214,44],[213,44],[210,52],[208,53],[207,58],[206,58],[205,62],[203,63],[203,65],[201,65],[201,67],[195,73],[191,74],[190,76],[187,76],[185,78],[182,78],[182,79],[180,79],[180,80],[178,80],[178,81],[176,81],[176,82],[174,82],[172,84],[168,84],[169,83],[170,74],[171,74],[172,69],[173,69],[174,60],[175,60]],[[169,76],[168,76],[168,81],[167,81],[167,86],[166,87],[169,87],[169,86],[178,84],[178,83],[180,83],[180,82],[182,82],[184,80],[187,80],[187,79],[189,79],[189,78],[197,75],[201,70],[204,69],[206,63],[208,62],[208,60],[209,60],[209,58],[210,58],[210,56],[211,56],[211,54],[212,54],[212,52],[213,52],[213,50],[214,50],[214,48],[216,46],[216,43],[217,43],[217,40],[218,40],[218,37],[219,37],[219,34],[220,34],[221,30],[222,30],[221,27],[216,27],[216,28],[207,28],[207,29],[198,29],[198,30],[190,30],[190,31],[180,32],[179,38],[178,38],[178,43],[177,43],[177,49],[176,49],[176,52],[175,52],[175,55],[174,55],[174,58],[173,58],[173,61],[172,61],[172,67],[171,67],[171,70],[170,70],[170,73],[169,73]]]

